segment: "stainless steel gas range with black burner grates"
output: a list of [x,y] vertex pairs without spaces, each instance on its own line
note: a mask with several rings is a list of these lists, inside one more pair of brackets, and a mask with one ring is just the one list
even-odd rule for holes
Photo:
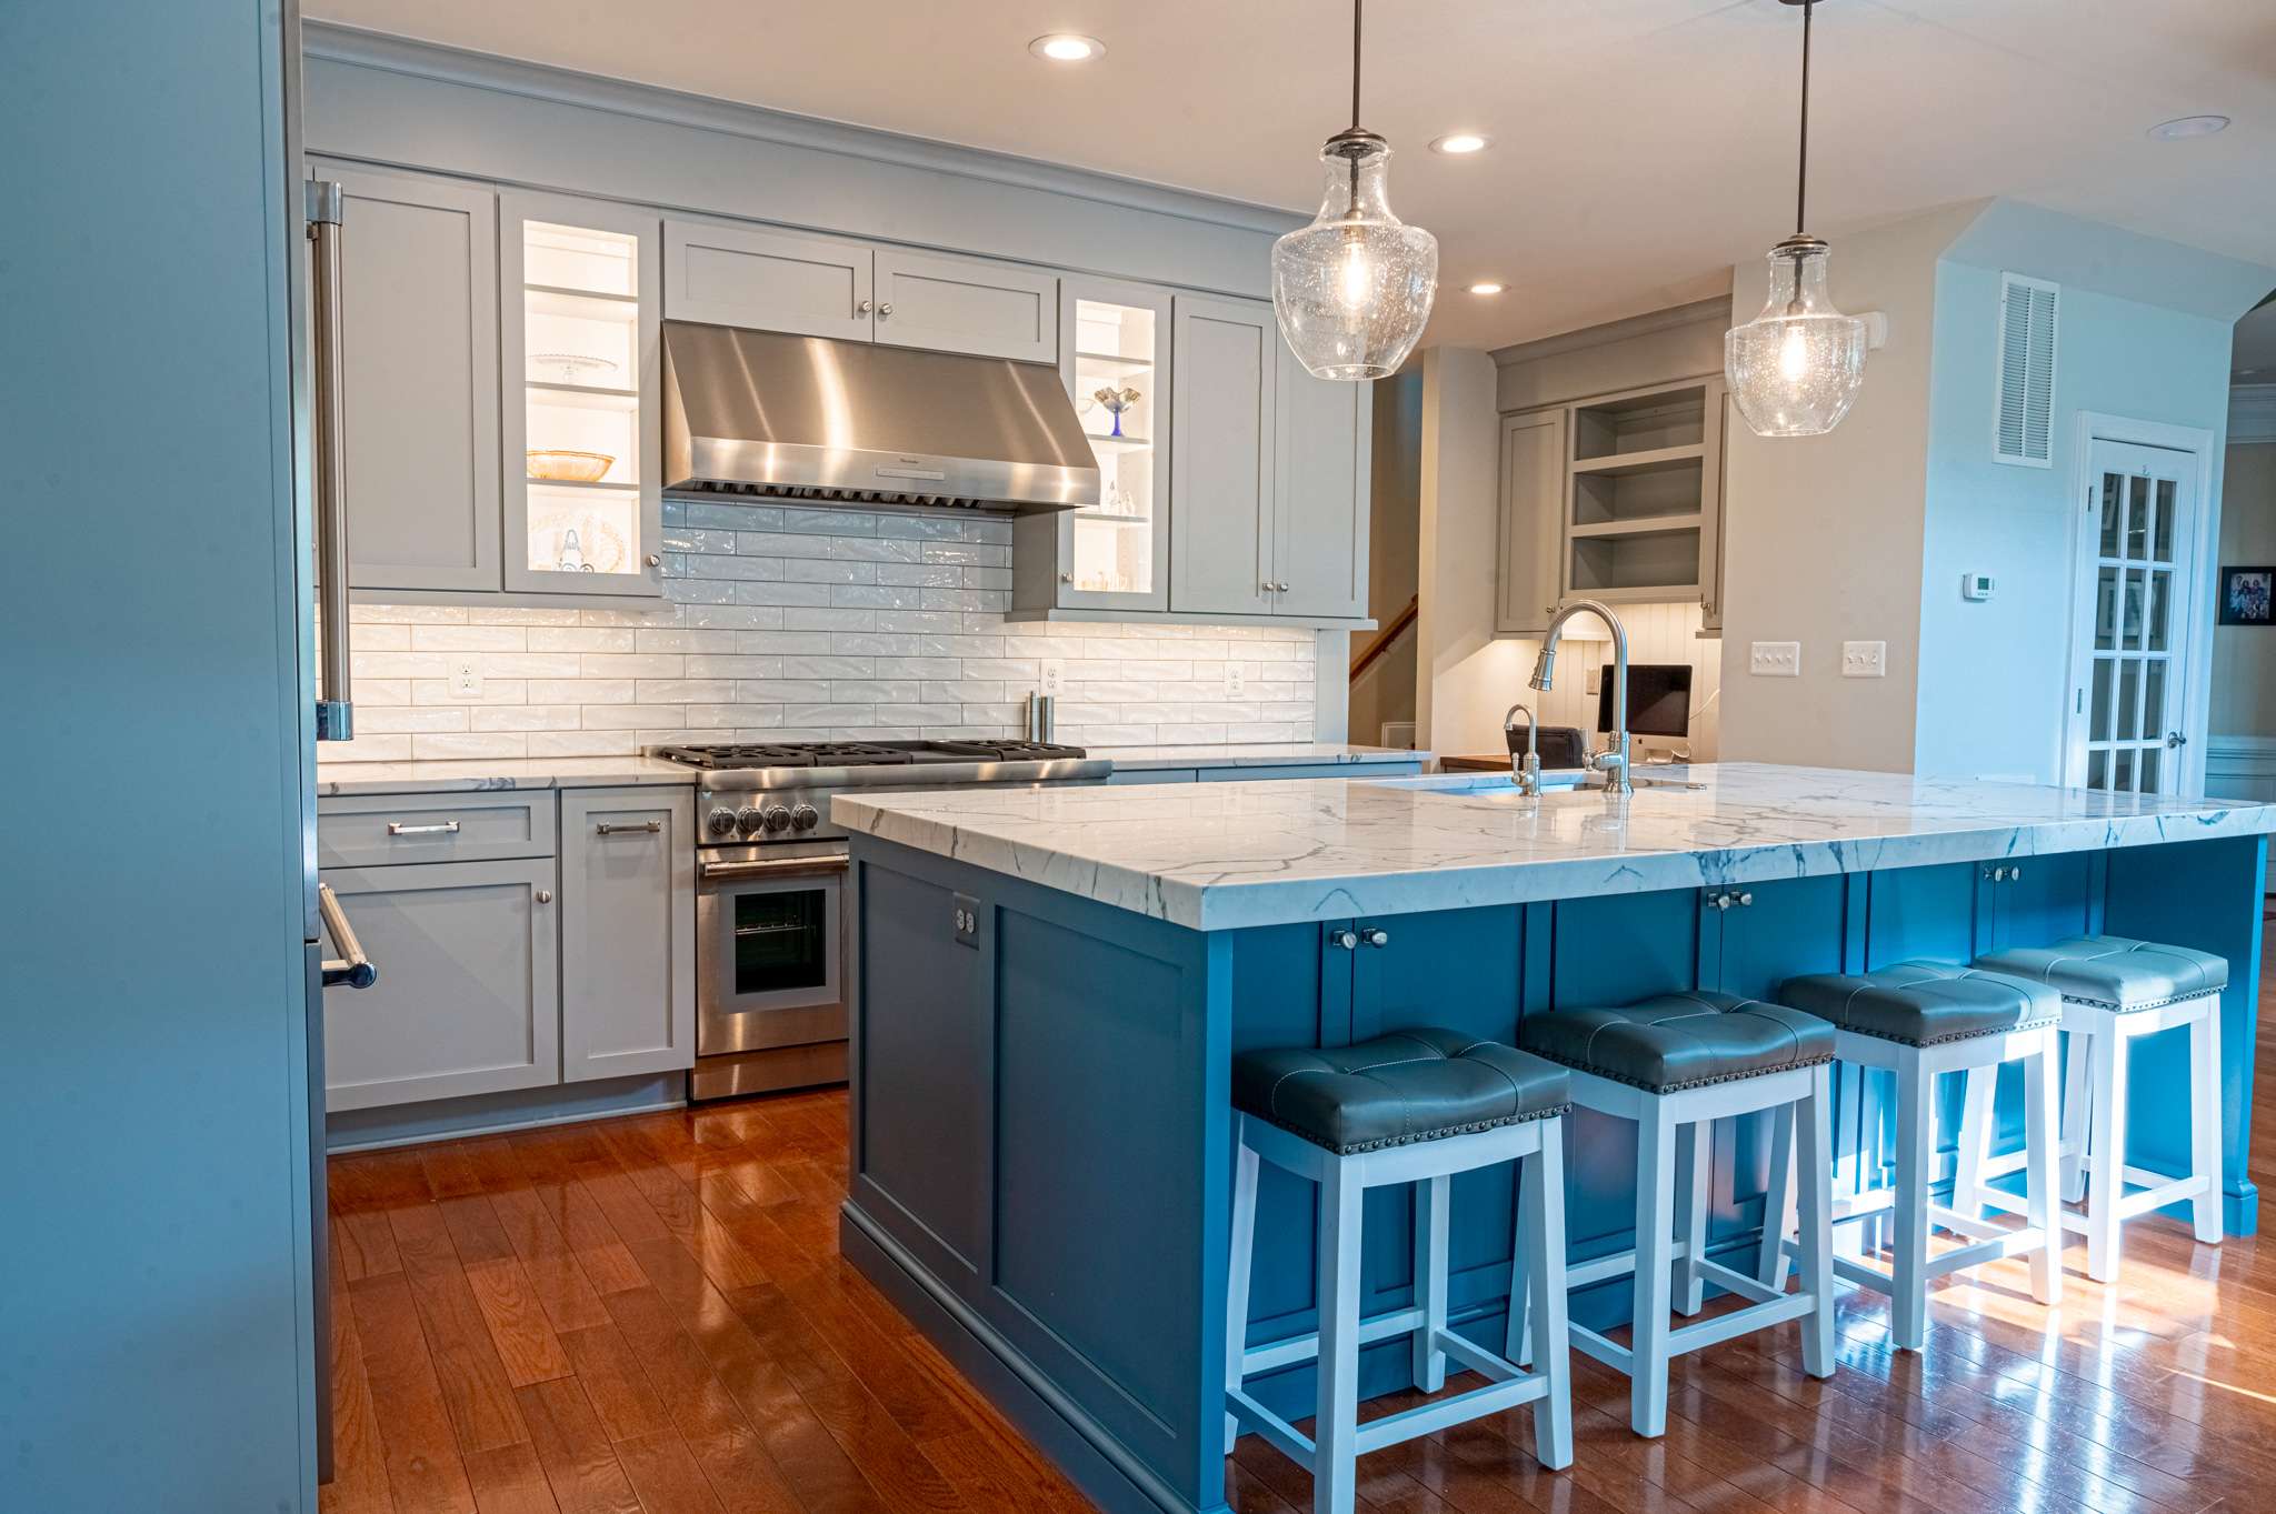
[[696,1068],[690,1098],[840,1082],[851,914],[844,789],[1099,782],[1104,757],[1040,741],[660,746],[696,784]]

